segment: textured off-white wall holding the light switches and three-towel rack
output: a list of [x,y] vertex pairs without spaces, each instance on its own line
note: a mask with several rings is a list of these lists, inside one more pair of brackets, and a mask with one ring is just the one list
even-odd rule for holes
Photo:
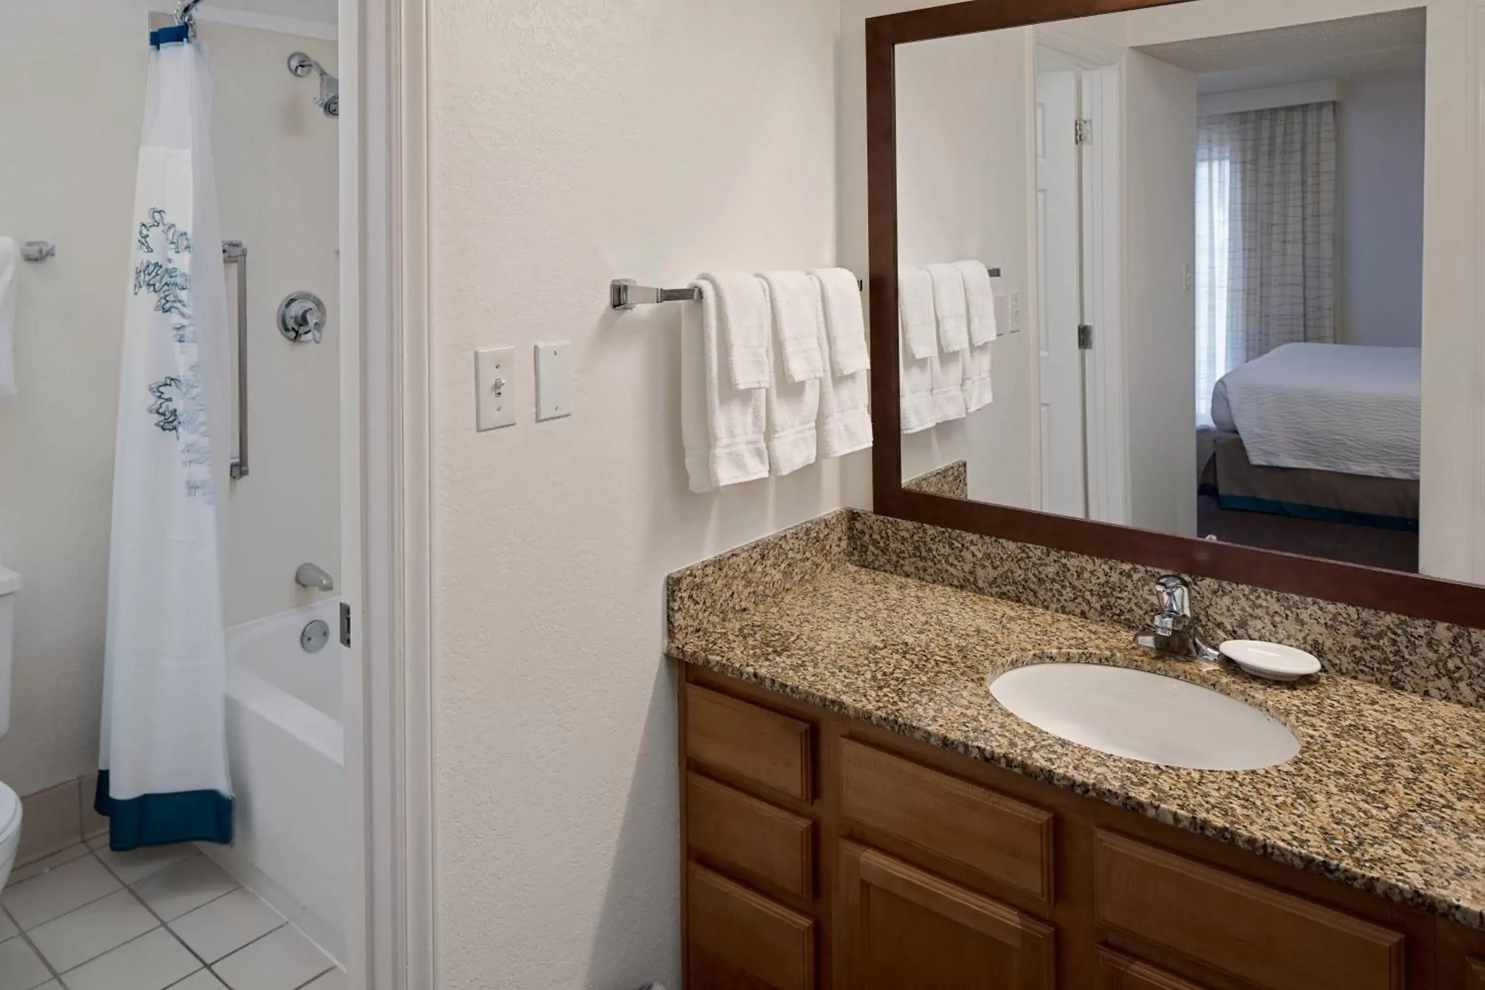
[[[432,4],[443,986],[679,984],[664,576],[869,494],[866,454],[689,494],[677,307],[612,278],[835,260],[835,0]],[[535,423],[532,344],[570,340]],[[475,347],[517,347],[474,429]]]

